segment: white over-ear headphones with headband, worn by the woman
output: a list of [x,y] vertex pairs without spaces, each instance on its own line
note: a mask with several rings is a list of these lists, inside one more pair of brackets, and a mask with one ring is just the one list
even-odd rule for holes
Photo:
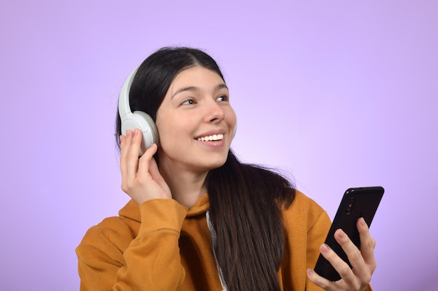
[[141,156],[153,144],[158,144],[159,137],[157,126],[155,126],[152,117],[142,111],[131,112],[131,107],[129,107],[129,91],[138,69],[135,68],[123,83],[119,96],[119,115],[122,121],[122,135],[126,135],[127,130],[134,131],[136,128],[139,128],[143,133],[139,153],[139,156]]

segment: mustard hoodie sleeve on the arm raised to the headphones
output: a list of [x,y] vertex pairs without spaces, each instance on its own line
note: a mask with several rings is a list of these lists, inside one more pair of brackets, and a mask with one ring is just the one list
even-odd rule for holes
[[85,234],[76,248],[81,291],[171,291],[183,282],[178,239],[187,209],[167,199],[148,200],[139,209],[136,237],[117,217]]

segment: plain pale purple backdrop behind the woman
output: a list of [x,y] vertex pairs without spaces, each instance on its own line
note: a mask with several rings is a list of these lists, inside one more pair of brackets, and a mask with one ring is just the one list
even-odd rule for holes
[[436,290],[437,1],[260,2],[0,4],[1,290],[78,290],[74,249],[128,200],[118,91],[164,45],[216,58],[243,161],[332,218],[346,188],[384,186],[374,290]]

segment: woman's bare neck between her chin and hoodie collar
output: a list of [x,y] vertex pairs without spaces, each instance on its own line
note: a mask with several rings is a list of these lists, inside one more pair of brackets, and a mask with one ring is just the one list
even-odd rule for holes
[[160,161],[159,169],[172,198],[188,209],[206,193],[204,181],[208,171],[192,171],[164,161]]

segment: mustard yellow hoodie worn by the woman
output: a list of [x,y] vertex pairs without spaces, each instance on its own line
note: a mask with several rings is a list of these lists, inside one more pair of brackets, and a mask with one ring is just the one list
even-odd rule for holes
[[[176,200],[149,200],[140,206],[129,201],[119,216],[91,227],[76,248],[80,290],[221,291],[208,209],[208,195],[191,209]],[[283,211],[282,290],[322,290],[307,279],[306,269],[315,266],[330,224],[327,213],[297,191]]]

